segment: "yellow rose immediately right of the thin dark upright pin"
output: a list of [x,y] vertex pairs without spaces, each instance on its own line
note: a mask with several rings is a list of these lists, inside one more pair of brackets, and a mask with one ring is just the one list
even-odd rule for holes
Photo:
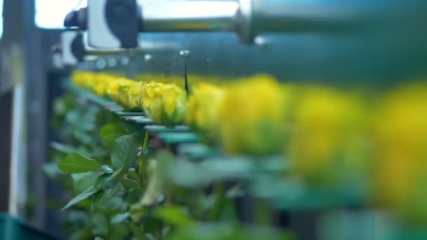
[[185,122],[196,131],[207,135],[209,140],[218,140],[218,111],[224,96],[225,89],[210,84],[193,87],[188,99]]

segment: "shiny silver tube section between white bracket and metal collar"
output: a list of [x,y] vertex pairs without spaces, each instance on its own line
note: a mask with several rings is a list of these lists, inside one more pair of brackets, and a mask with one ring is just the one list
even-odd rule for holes
[[141,3],[143,32],[235,31],[237,1],[166,1]]

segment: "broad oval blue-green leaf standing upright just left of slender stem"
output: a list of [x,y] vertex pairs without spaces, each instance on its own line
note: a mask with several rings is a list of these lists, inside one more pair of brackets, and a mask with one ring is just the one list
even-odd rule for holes
[[136,160],[140,142],[134,135],[124,135],[118,138],[113,145],[111,161],[115,169],[128,169]]

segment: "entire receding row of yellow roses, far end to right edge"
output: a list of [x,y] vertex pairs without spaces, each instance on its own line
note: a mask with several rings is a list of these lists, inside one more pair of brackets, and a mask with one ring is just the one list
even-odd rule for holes
[[72,79],[157,123],[185,122],[229,154],[284,154],[306,182],[362,181],[382,206],[427,219],[426,84],[369,95],[256,75],[221,86],[197,81],[187,99],[175,84],[92,72]]

